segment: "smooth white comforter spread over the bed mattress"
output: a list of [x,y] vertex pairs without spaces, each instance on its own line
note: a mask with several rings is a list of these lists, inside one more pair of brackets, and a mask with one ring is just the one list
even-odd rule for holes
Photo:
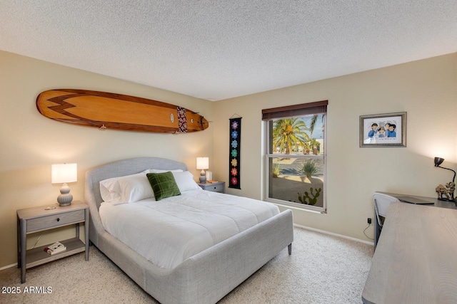
[[106,231],[148,261],[172,269],[279,210],[264,201],[191,190],[161,201],[102,203],[99,212]]

